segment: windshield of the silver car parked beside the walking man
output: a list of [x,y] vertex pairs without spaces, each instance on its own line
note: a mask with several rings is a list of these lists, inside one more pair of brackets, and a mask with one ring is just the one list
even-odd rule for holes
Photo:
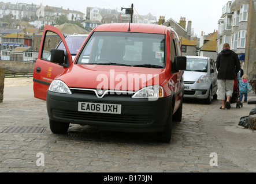
[[207,72],[207,59],[188,58],[185,71]]

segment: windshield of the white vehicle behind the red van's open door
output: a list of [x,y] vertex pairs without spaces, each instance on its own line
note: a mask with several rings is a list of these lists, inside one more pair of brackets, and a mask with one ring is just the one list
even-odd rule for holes
[[[84,43],[84,40],[86,40],[87,35],[72,35],[72,36],[67,36],[65,38],[66,44],[68,44],[69,51],[71,52],[71,55],[76,55],[77,52],[79,51],[81,45]],[[58,45],[57,49],[64,50],[66,52],[66,48],[61,41],[61,43]]]

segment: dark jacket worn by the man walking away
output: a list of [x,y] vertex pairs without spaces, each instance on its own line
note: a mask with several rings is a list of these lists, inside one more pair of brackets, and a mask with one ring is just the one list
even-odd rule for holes
[[240,70],[238,55],[230,49],[224,49],[218,54],[216,60],[218,79],[234,80]]

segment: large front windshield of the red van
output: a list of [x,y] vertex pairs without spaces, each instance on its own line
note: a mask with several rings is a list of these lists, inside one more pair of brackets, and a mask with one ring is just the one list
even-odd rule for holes
[[76,64],[163,68],[164,34],[95,32]]

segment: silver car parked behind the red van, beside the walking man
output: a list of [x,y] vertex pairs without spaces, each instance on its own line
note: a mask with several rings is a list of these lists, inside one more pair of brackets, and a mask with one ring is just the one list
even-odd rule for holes
[[184,72],[184,98],[203,99],[211,104],[217,99],[217,69],[214,60],[203,56],[186,56],[187,70]]

